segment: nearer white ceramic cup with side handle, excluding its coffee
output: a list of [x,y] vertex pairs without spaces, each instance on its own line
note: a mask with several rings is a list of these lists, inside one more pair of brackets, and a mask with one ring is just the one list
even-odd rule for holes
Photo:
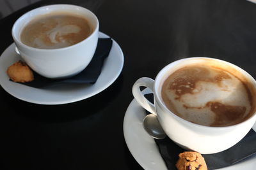
[[[172,141],[186,150],[193,150],[203,154],[221,152],[235,145],[252,129],[256,120],[256,114],[253,113],[250,118],[236,125],[210,127],[191,123],[168,110],[163,103],[163,99],[161,99],[161,87],[164,80],[177,69],[188,66],[191,63],[204,62],[205,59],[214,60],[236,69],[252,83],[253,90],[256,91],[256,81],[246,71],[229,62],[206,57],[192,57],[172,62],[161,69],[155,80],[143,77],[137,80],[132,87],[132,94],[136,101],[143,108],[150,111],[150,113],[157,115],[164,132]],[[143,96],[140,87],[148,87],[152,90],[154,93],[154,104],[150,103]],[[255,106],[253,107],[255,110]]]

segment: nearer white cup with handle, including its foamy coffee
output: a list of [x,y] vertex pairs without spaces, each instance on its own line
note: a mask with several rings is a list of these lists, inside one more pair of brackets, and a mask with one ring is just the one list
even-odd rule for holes
[[[148,87],[154,104],[141,93]],[[236,145],[256,120],[256,81],[229,62],[191,57],[168,64],[156,79],[140,78],[132,94],[157,115],[164,132],[177,145],[203,154]]]

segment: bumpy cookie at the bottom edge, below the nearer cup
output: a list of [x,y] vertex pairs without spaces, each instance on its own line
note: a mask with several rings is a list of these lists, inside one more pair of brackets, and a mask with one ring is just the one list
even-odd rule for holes
[[178,170],[207,170],[205,160],[198,152],[180,153],[176,167]]

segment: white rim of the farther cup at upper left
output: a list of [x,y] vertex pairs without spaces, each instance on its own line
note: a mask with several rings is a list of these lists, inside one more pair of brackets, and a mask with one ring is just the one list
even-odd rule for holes
[[[15,33],[14,33],[14,28],[15,28],[15,25],[17,25],[20,20],[24,17],[26,17],[26,15],[29,15],[29,13],[33,13],[34,11],[37,11],[37,10],[42,10],[44,8],[52,8],[54,6],[66,6],[66,7],[69,7],[69,8],[78,8],[79,10],[85,10],[85,11],[88,11],[88,13],[90,13],[90,15],[93,16],[93,18],[95,18],[96,20],[96,27],[93,29],[93,32],[92,34],[90,34],[90,36],[88,36],[87,38],[83,39],[83,41],[80,41],[79,43],[76,43],[74,45],[70,45],[70,46],[65,46],[65,47],[62,47],[62,48],[52,48],[52,49],[45,49],[45,48],[35,48],[35,47],[32,47],[32,46],[28,46],[28,45],[25,45],[24,43],[22,43],[20,41],[19,38],[17,38],[15,36]],[[60,8],[61,9],[61,8]],[[38,15],[39,16],[39,15]],[[32,19],[33,20],[33,19]],[[15,43],[19,43],[20,46],[23,46],[24,48],[28,48],[29,50],[36,50],[36,51],[40,51],[40,52],[54,52],[54,51],[60,51],[60,50],[68,50],[69,48],[74,48],[74,46],[79,46],[81,45],[81,43],[84,43],[86,41],[89,41],[90,39],[92,39],[92,37],[95,35],[95,34],[98,34],[98,31],[99,31],[99,20],[97,18],[97,16],[90,10],[88,10],[87,8],[84,8],[83,6],[77,6],[77,5],[73,5],[73,4],[51,4],[51,5],[47,5],[47,6],[41,6],[39,8],[35,8],[33,10],[30,10],[26,13],[24,13],[23,15],[21,15],[16,21],[15,23],[13,24],[12,26],[12,37],[13,37],[13,40],[15,41]]]

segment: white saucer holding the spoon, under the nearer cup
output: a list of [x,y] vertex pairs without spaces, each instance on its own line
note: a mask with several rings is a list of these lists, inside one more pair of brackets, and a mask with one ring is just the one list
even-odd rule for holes
[[[143,94],[148,94],[149,89],[143,90]],[[153,138],[143,129],[143,118],[146,112],[137,103],[135,99],[132,100],[128,106],[124,117],[124,138],[126,144],[136,161],[146,170],[166,170],[167,167],[164,160],[159,153],[157,145]],[[218,170],[241,170],[241,169],[255,169],[256,155],[243,160],[234,166],[221,168]]]

